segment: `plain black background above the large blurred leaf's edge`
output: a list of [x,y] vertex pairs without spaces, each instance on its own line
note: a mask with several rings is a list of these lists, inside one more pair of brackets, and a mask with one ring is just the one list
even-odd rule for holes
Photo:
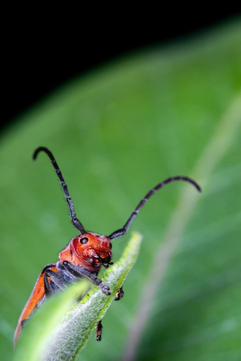
[[[93,6],[94,8],[94,6]],[[173,6],[174,8],[174,6]],[[195,36],[240,15],[240,9],[9,9],[2,51],[2,126],[76,75],[143,47]],[[30,12],[30,13],[29,13]],[[31,14],[31,15],[29,15]]]

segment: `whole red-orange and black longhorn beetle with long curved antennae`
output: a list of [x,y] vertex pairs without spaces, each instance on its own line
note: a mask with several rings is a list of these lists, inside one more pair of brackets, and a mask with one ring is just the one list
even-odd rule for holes
[[[177,175],[167,178],[148,192],[131,214],[123,228],[112,232],[109,236],[101,236],[93,232],[85,231],[82,223],[76,218],[67,185],[51,151],[45,147],[39,147],[35,150],[33,159],[35,160],[41,151],[44,151],[52,161],[66,198],[72,225],[78,230],[79,235],[72,238],[69,244],[60,252],[60,260],[57,263],[49,264],[43,268],[19,318],[14,335],[14,344],[17,341],[21,328],[29,319],[33,311],[41,305],[43,300],[57,290],[66,288],[69,283],[75,282],[76,279],[87,278],[94,285],[98,286],[103,293],[106,295],[110,294],[109,287],[97,278],[97,274],[99,273],[101,266],[108,268],[109,265],[113,264],[113,262],[111,262],[111,241],[114,238],[125,235],[140,209],[154,193],[175,180],[184,180],[193,185],[197,191],[201,192],[201,189],[195,180],[187,176]],[[124,291],[121,287],[116,293],[115,300],[121,299],[123,295]],[[96,328],[95,337],[97,341],[100,341],[102,329],[101,320],[97,323]]]

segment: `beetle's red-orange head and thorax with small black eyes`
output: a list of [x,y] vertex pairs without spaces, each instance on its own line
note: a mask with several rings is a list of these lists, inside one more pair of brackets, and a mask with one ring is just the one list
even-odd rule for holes
[[68,261],[76,266],[96,271],[101,266],[112,264],[111,243],[108,237],[92,232],[85,232],[73,238],[60,252],[61,262]]

